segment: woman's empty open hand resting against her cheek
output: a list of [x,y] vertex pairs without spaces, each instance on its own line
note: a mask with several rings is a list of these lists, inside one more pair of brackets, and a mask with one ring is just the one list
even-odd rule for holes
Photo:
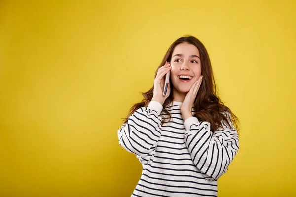
[[189,92],[187,93],[182,106],[181,106],[181,114],[182,114],[182,118],[185,121],[187,118],[192,117],[192,107],[194,104],[194,100],[196,98],[197,92],[199,90],[199,87],[201,85],[202,82],[202,76],[199,77],[198,81],[195,82]]

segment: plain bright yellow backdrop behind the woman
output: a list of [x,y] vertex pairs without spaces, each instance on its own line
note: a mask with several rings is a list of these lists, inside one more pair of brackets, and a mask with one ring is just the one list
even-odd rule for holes
[[294,0],[0,1],[0,197],[128,197],[117,130],[180,36],[209,51],[241,121],[219,197],[292,197]]

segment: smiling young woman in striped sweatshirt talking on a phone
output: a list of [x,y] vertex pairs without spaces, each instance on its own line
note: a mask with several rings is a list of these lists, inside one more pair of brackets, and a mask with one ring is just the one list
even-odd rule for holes
[[217,179],[238,151],[238,120],[217,95],[204,45],[177,39],[143,96],[118,130],[120,145],[143,165],[131,196],[217,197]]

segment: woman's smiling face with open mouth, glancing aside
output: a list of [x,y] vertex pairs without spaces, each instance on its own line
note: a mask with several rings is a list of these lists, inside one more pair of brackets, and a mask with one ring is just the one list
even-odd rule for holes
[[201,75],[200,55],[198,49],[186,42],[177,45],[171,58],[170,78],[174,90],[179,93],[189,92],[194,82]]

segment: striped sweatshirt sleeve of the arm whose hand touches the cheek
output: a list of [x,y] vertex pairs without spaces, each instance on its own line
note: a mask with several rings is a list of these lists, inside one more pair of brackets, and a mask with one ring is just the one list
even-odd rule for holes
[[184,122],[185,143],[193,163],[207,180],[217,180],[228,169],[230,162],[238,151],[238,133],[231,117],[225,112],[230,126],[222,120],[222,128],[210,131],[210,123],[199,122],[196,117],[190,117]]

